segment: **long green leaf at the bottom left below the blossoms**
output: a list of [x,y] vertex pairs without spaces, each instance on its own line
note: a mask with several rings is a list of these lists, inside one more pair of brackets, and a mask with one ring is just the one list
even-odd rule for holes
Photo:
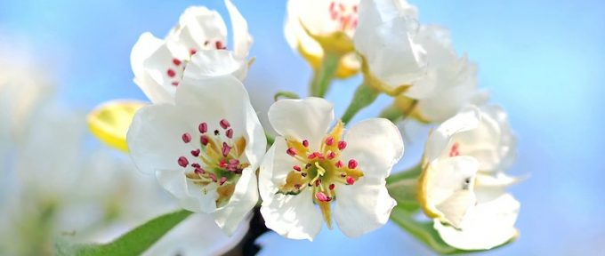
[[69,237],[60,236],[55,242],[56,255],[139,255],[145,252],[170,229],[189,217],[191,212],[181,210],[149,220],[108,244],[76,244]]

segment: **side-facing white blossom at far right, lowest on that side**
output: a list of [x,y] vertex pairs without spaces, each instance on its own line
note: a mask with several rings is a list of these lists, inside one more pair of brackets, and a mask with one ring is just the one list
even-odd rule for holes
[[424,151],[419,198],[443,240],[490,249],[517,236],[520,204],[505,192],[514,137],[503,110],[469,107],[433,131]]

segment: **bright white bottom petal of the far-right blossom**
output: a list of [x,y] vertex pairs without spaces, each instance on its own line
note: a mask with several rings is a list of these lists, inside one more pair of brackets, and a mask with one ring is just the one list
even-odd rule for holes
[[514,222],[519,214],[520,204],[506,194],[496,200],[478,204],[464,220],[464,227],[458,230],[435,220],[434,228],[443,241],[463,250],[488,250],[518,236]]

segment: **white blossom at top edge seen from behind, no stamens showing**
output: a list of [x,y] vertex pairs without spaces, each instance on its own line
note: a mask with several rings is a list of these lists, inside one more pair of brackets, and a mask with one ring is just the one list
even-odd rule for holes
[[424,48],[417,42],[415,7],[404,0],[361,0],[355,48],[366,60],[369,72],[391,88],[412,85],[406,92],[421,97],[429,88],[415,86],[424,76]]

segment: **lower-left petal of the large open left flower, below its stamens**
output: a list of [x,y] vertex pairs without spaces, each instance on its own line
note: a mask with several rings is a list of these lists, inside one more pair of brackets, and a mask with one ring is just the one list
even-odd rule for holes
[[218,194],[213,188],[202,188],[185,178],[185,173],[173,170],[159,170],[156,178],[160,186],[179,200],[179,205],[191,212],[214,212]]

